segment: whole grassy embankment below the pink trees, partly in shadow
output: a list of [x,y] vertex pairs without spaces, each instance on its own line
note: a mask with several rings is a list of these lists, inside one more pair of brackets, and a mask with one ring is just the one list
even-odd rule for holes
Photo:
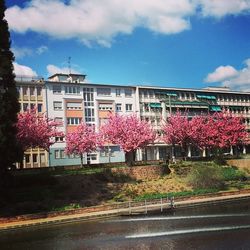
[[[0,217],[101,205],[129,199],[151,199],[167,195],[186,196],[250,188],[249,171],[223,166],[222,188],[197,188],[188,181],[194,169],[212,162],[183,162],[156,180],[135,181],[115,175],[110,169],[41,170],[12,173],[10,185],[0,189]],[[218,166],[215,166],[218,167]]]

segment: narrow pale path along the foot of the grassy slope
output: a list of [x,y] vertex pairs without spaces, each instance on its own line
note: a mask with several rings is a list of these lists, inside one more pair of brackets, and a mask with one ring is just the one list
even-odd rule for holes
[[[250,198],[250,193],[243,193],[243,194],[231,194],[231,195],[223,195],[223,196],[214,196],[214,197],[205,197],[205,198],[193,198],[183,201],[176,201],[174,203],[175,208],[178,207],[190,207],[196,206],[201,204],[211,204],[215,202],[222,202],[222,201],[230,201],[235,199],[244,199]],[[163,203],[162,206],[164,209],[169,208],[169,203]],[[147,206],[147,211],[152,210],[159,210],[159,204],[151,204]],[[81,213],[81,214],[71,214],[71,215],[61,215],[56,217],[49,217],[49,218],[41,218],[41,219],[29,219],[29,220],[20,220],[20,221],[13,221],[13,222],[5,222],[0,224],[0,231],[2,230],[9,230],[21,227],[29,227],[29,226],[39,226],[39,225],[46,225],[46,224],[58,224],[58,223],[67,223],[72,221],[79,221],[79,220],[91,220],[100,217],[111,217],[117,215],[129,215],[131,209],[129,208],[120,208],[120,209],[113,209],[107,211],[98,211],[98,212],[88,212],[88,213]],[[145,207],[133,207],[133,211],[143,212]]]

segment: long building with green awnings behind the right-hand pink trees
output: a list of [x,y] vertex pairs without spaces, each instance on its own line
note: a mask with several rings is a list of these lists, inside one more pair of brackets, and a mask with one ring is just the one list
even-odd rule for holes
[[[230,110],[233,115],[242,116],[247,130],[250,130],[250,93],[231,91],[227,87],[208,87],[204,89],[137,87],[139,92],[140,117],[149,121],[161,133],[162,119],[177,110],[192,118],[195,115]],[[233,148],[230,149],[231,153]],[[249,153],[250,147],[243,146],[241,151]],[[171,155],[171,146],[157,142],[142,152],[142,159],[164,159]],[[190,148],[188,155],[197,156],[197,148]],[[181,152],[177,150],[177,156]]]

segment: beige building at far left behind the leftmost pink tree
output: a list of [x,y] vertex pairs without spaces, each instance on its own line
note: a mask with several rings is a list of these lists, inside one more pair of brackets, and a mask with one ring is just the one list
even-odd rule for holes
[[[46,111],[45,86],[43,78],[19,76],[16,77],[16,85],[19,92],[21,112],[36,107],[38,114],[42,115]],[[31,148],[25,151],[23,162],[21,164],[18,163],[17,167],[46,167],[48,166],[47,162],[47,151],[40,148]]]

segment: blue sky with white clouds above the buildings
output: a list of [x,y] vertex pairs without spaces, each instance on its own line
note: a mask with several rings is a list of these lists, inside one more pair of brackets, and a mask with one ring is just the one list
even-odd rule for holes
[[250,92],[250,0],[6,0],[16,75]]

